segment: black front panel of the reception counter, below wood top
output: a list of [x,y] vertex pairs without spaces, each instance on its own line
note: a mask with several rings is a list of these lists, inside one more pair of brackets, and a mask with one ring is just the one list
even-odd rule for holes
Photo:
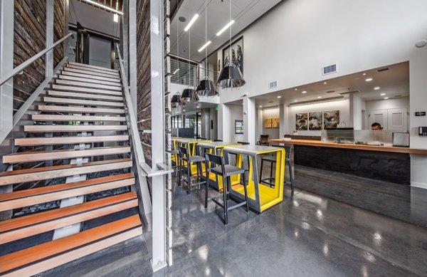
[[411,182],[411,160],[405,153],[294,145],[294,162],[397,184]]

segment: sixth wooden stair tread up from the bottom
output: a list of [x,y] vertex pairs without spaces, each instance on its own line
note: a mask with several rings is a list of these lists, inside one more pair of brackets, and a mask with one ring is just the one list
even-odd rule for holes
[[[23,137],[15,139],[16,146],[26,145],[66,145],[73,143],[121,142],[129,140],[128,135],[94,135],[76,137]],[[1,175],[0,175],[1,176]]]

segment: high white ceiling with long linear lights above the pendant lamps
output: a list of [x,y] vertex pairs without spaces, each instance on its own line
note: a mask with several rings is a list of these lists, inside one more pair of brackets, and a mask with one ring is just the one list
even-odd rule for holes
[[[210,53],[221,47],[229,39],[229,31],[224,31],[217,37],[223,26],[230,21],[229,0],[206,0],[208,10],[207,41],[212,43],[207,47],[208,56]],[[232,0],[231,19],[236,21],[231,26],[231,36],[235,36],[253,21],[265,14],[278,4],[281,0]],[[184,27],[189,23],[194,14],[199,14],[199,19],[185,32]],[[179,17],[184,17],[185,22],[179,21]],[[171,52],[194,61],[202,61],[205,58],[205,51],[199,53],[199,48],[205,43],[205,0],[184,0],[179,6],[174,18],[171,21]],[[179,53],[177,49],[176,28],[179,33]],[[189,42],[190,35],[190,42]],[[190,44],[190,56],[189,56]]]

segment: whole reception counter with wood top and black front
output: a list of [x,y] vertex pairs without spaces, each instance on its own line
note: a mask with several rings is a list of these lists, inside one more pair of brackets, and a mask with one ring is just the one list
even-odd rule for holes
[[320,140],[278,139],[269,142],[272,145],[293,145],[295,164],[398,184],[411,182],[410,155],[427,155],[427,150],[408,147],[355,145]]

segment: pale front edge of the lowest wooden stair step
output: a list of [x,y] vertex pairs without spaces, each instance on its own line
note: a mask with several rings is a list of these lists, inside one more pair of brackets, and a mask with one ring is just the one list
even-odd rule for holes
[[58,256],[54,256],[53,258],[48,258],[41,262],[33,263],[30,266],[23,267],[10,274],[6,274],[5,276],[8,276],[8,277],[33,276],[34,274],[47,271],[56,266],[60,266],[60,265],[63,265],[64,263],[68,263],[70,261],[74,261],[78,258],[82,258],[89,254],[96,253],[98,251],[101,251],[102,249],[107,249],[110,246],[113,246],[115,244],[120,244],[123,241],[127,241],[128,239],[132,239],[132,238],[135,238],[136,236],[141,236],[141,235],[142,235],[142,228],[137,227],[135,229],[131,229],[130,231],[125,231],[121,234],[110,236],[108,237],[108,239],[103,239],[93,244],[88,244],[88,246],[84,246],[82,248],[75,249],[73,251],[65,252],[65,254],[60,254]]

